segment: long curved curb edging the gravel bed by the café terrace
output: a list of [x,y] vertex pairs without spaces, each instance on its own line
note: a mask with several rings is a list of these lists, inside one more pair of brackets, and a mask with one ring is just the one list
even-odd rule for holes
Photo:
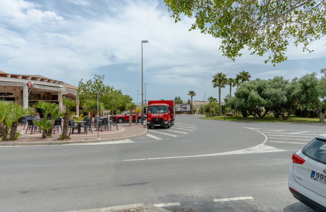
[[141,134],[131,135],[131,136],[127,136],[127,137],[120,137],[120,138],[109,138],[109,139],[103,139],[103,140],[87,140],[87,141],[8,142],[8,143],[0,143],[0,146],[42,146],[42,145],[97,143],[97,142],[117,141],[117,140],[124,140],[124,139],[128,139],[128,138],[134,138],[134,137],[142,136],[146,133],[147,133],[147,127],[145,128],[145,132],[143,132]]

